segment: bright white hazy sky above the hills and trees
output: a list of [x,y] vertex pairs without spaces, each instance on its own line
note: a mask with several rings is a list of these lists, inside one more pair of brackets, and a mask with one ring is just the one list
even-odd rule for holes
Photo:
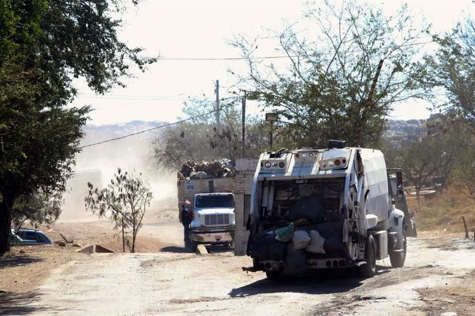
[[[371,1],[381,5],[387,14],[399,7],[400,1]],[[455,26],[466,15],[473,15],[471,0],[408,1],[415,15],[426,16],[433,31]],[[126,88],[116,88],[104,97],[96,96],[78,81],[81,95],[74,105],[91,104],[95,109],[89,123],[101,125],[130,120],[175,121],[183,116],[183,101],[188,96],[215,99],[215,80],[220,80],[220,97],[230,96],[227,88],[236,82],[228,69],[246,71],[243,61],[170,60],[166,58],[239,57],[229,45],[235,34],[252,39],[263,34],[263,28],[281,30],[283,21],[301,17],[304,6],[299,1],[163,1],[144,0],[124,15],[122,40],[131,46],[142,46],[142,55],[160,54],[164,59],[145,73],[127,79]],[[270,52],[272,55],[272,52]],[[204,95],[204,96],[203,96]],[[428,106],[422,102],[399,104],[393,118],[427,118]],[[248,112],[257,113],[249,104]]]

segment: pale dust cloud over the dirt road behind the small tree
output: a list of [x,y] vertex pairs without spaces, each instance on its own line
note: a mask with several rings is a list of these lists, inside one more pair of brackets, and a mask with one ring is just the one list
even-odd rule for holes
[[[86,137],[81,145],[89,145],[105,139],[124,135],[128,130],[117,125],[86,127]],[[95,129],[94,129],[95,128]],[[110,131],[111,128],[115,130]],[[142,173],[147,180],[153,199],[145,213],[144,223],[175,219],[177,211],[176,170],[163,172],[158,170],[152,159],[151,140],[153,133],[140,134],[128,138],[86,147],[76,156],[75,174],[67,183],[64,195],[63,212],[58,222],[96,221],[97,217],[86,211],[84,197],[88,195],[88,182],[103,188],[110,183],[117,167],[123,171]]]

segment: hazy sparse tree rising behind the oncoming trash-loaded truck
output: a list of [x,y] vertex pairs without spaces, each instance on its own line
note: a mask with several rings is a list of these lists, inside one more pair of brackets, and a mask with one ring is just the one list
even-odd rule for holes
[[[217,125],[213,112],[214,101],[186,103],[183,112],[192,119],[170,126],[152,142],[157,164],[163,168],[178,170],[189,160],[240,158],[242,113],[238,110],[240,108],[238,101],[240,99],[236,98],[221,101],[220,126]],[[246,116],[244,142],[247,156],[258,155],[266,148],[267,131],[267,125],[258,118]]]

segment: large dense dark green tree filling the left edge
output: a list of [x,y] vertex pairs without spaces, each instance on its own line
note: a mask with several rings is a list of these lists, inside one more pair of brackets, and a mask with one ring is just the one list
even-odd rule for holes
[[80,151],[89,106],[66,107],[83,77],[98,93],[155,59],[117,38],[121,0],[0,0],[0,255],[12,207],[60,192]]

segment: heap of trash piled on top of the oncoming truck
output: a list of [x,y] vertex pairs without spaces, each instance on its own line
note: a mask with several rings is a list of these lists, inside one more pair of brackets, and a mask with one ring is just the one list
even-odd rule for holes
[[211,162],[187,161],[178,171],[178,180],[209,179],[234,177],[234,162],[229,159],[213,160]]

